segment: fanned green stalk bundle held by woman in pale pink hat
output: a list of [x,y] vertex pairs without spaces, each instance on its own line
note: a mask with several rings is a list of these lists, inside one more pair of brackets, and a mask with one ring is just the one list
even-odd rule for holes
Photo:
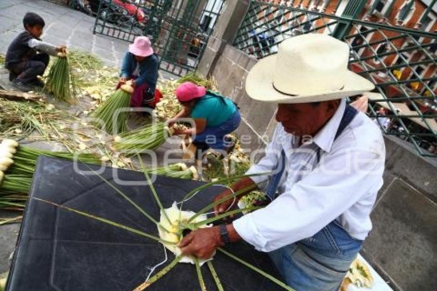
[[128,129],[128,111],[123,108],[131,104],[131,94],[134,89],[129,84],[124,84],[105,102],[100,104],[94,112],[96,126],[109,134],[123,133]]

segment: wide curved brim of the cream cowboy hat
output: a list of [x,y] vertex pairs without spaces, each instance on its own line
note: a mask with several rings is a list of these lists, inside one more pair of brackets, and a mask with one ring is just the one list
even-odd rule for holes
[[280,93],[273,86],[277,55],[268,56],[252,67],[246,78],[246,93],[250,98],[272,103],[307,103],[340,99],[343,97],[361,94],[374,88],[372,82],[348,71],[344,87],[332,92],[307,95],[286,95]]

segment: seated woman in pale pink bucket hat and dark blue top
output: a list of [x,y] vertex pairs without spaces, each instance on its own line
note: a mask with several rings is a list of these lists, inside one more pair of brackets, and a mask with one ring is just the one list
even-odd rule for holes
[[154,108],[161,97],[155,89],[158,80],[158,57],[153,53],[148,37],[136,37],[134,43],[129,45],[129,51],[121,64],[117,89],[128,80],[132,80],[134,87],[131,105]]

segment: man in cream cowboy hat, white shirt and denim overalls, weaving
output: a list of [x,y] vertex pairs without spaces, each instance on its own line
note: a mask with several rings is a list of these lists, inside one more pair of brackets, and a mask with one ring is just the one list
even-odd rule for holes
[[[337,290],[372,228],[370,212],[383,185],[385,146],[378,127],[344,97],[373,88],[348,70],[349,46],[329,35],[285,40],[249,72],[246,92],[278,104],[277,128],[265,156],[233,191],[265,183],[272,202],[233,221],[192,231],[184,254],[211,257],[244,240],[269,252],[297,290]],[[231,195],[225,191],[219,199]],[[244,195],[244,194],[243,194]],[[216,206],[228,209],[233,199]]]

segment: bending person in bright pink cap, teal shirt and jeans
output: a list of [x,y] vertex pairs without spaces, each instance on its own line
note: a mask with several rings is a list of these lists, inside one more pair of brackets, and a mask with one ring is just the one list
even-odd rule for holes
[[226,135],[238,128],[241,117],[232,100],[191,82],[180,84],[176,88],[176,97],[183,108],[169,123],[189,117],[193,119],[194,126],[177,130],[175,134],[193,136],[193,144],[201,152],[209,148],[228,151],[233,147],[233,142]]

